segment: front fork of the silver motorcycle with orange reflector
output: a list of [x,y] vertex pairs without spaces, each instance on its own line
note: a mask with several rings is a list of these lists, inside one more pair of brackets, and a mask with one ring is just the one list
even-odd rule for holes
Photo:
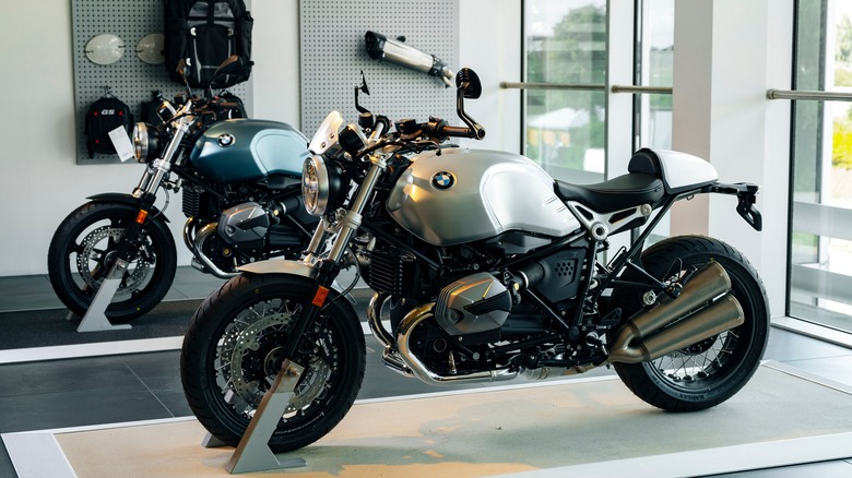
[[[331,285],[338,277],[338,274],[340,274],[341,264],[350,240],[360,227],[362,213],[367,205],[367,201],[376,187],[379,176],[388,167],[384,157],[381,155],[370,156],[369,160],[371,166],[367,171],[367,176],[364,178],[364,182],[362,182],[360,188],[358,188],[358,192],[350,204],[348,211],[346,211],[343,217],[338,222],[338,237],[331,246],[329,256],[319,260],[315,265],[315,267],[317,267],[317,276],[313,280],[313,291],[310,295],[311,300],[303,308],[298,320],[293,324],[287,342],[284,344],[282,357],[289,359],[294,363],[299,363],[298,360],[295,359],[295,355],[305,342],[305,332],[317,321],[320,311],[323,306],[326,306],[326,299],[328,299],[329,292],[331,291]],[[320,224],[318,230],[324,230],[323,226],[324,224]],[[311,246],[316,246],[316,249],[308,250],[309,256],[318,252],[320,238],[322,236],[323,232],[313,235]]]

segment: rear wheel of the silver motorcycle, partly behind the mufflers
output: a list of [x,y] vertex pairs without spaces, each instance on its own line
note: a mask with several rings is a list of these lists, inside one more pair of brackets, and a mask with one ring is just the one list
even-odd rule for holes
[[[651,362],[614,363],[627,387],[655,407],[695,411],[719,405],[738,392],[760,365],[769,337],[769,302],[748,260],[720,240],[699,236],[670,238],[642,254],[644,268],[656,278],[688,273],[710,261],[721,264],[731,277],[745,322]],[[629,270],[624,278],[642,282]],[[640,294],[614,290],[613,306],[629,318],[642,307]]]

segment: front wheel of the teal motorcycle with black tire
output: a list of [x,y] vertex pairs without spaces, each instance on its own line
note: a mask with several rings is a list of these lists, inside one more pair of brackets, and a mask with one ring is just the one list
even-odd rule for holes
[[[130,204],[93,201],[78,207],[54,232],[47,272],[54,291],[73,313],[84,315],[109,267],[127,225],[138,210]],[[142,247],[130,262],[106,315],[129,322],[156,307],[175,279],[177,251],[162,219],[149,219]]]

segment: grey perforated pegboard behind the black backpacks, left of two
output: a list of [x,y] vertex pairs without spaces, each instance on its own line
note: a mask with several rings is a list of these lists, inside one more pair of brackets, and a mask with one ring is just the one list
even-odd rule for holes
[[[246,7],[251,8],[250,0],[246,0]],[[90,158],[85,144],[86,109],[104,96],[107,87],[130,107],[137,121],[141,116],[140,104],[151,99],[151,92],[161,91],[169,99],[186,92],[186,87],[169,80],[163,63],[146,63],[137,55],[139,40],[150,34],[163,33],[163,0],[71,0],[78,164],[119,163],[115,154],[96,153]],[[115,63],[97,64],[85,55],[88,40],[100,34],[113,34],[122,40],[125,51]],[[242,99],[249,116],[252,111],[251,83],[249,80],[228,88]]]

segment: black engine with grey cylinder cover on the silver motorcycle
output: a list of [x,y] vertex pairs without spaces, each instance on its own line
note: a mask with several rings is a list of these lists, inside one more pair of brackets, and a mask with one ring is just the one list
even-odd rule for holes
[[[364,277],[374,290],[389,294],[401,304],[391,309],[395,331],[414,304],[435,302],[437,330],[446,339],[464,344],[487,344],[526,337],[548,328],[549,318],[532,300],[510,290],[511,282],[530,289],[553,309],[569,315],[577,307],[576,296],[583,272],[585,248],[563,248],[522,266],[502,270],[507,246],[500,242],[422,251],[441,254],[436,270],[410,250],[379,241],[368,254]],[[489,271],[489,272],[484,272]],[[404,306],[403,306],[404,304]],[[437,335],[435,335],[437,337]]]

